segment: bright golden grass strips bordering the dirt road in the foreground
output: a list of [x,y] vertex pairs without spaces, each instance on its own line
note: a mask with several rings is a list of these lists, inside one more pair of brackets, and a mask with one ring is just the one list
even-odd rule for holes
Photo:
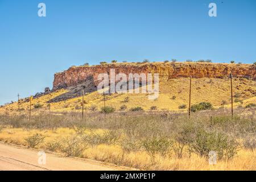
[[[102,131],[98,131],[102,132]],[[27,146],[24,141],[25,137],[35,133],[42,134],[46,137],[45,143],[63,137],[71,137],[75,134],[75,130],[68,128],[60,128],[56,131],[51,130],[23,130],[23,129],[4,129],[0,133],[0,140],[7,143],[22,144]],[[41,144],[39,148],[46,148],[45,144]],[[57,150],[60,152],[60,150]],[[221,160],[217,165],[209,165],[205,158],[196,154],[191,156],[185,155],[179,159],[174,154],[163,158],[156,156],[155,163],[152,164],[150,156],[145,151],[130,152],[125,154],[119,145],[100,144],[95,147],[87,148],[82,154],[84,158],[96,159],[103,162],[115,163],[118,165],[148,169],[148,170],[256,170],[256,154],[250,150],[238,151],[237,157],[232,160]]]

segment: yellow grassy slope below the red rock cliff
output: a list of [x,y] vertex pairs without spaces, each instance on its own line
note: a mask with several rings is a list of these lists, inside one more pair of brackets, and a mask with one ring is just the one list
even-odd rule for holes
[[[37,110],[48,110],[47,101],[68,92],[61,89],[36,98],[32,101],[32,109],[36,104],[43,105]],[[188,106],[189,96],[189,78],[176,78],[168,81],[160,81],[159,97],[156,100],[149,100],[148,94],[111,94],[106,96],[106,105],[112,106],[115,110],[120,110],[122,105],[127,106],[127,110],[131,107],[140,106],[144,110],[150,110],[151,106],[156,106],[158,110],[176,110],[180,105]],[[256,81],[247,80],[245,78],[234,78],[233,94],[235,106],[246,106],[247,104],[256,104]],[[125,102],[125,98],[129,97],[129,101]],[[85,109],[90,110],[90,107],[95,106],[98,110],[104,106],[103,96],[98,92],[86,94],[84,97]],[[66,101],[51,103],[52,111],[81,111],[82,97],[72,98]],[[230,107],[230,80],[228,78],[193,78],[192,79],[192,104],[200,102],[210,102],[214,107]],[[21,110],[28,110],[30,103],[23,101],[20,103]],[[0,113],[5,111],[18,110],[18,103],[6,105],[0,108]]]

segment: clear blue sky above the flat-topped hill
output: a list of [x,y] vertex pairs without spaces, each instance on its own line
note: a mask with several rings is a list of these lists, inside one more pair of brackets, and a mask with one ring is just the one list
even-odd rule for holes
[[254,63],[256,1],[0,0],[0,105],[52,88],[72,65],[143,59]]

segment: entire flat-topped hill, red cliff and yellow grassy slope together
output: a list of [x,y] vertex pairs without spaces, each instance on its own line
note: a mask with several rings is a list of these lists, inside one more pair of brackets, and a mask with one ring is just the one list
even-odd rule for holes
[[[110,94],[106,96],[106,105],[120,110],[122,105],[131,107],[140,106],[150,110],[156,106],[157,110],[176,110],[180,105],[188,106],[189,75],[192,75],[192,104],[210,102],[214,107],[230,107],[230,79],[232,71],[234,105],[246,106],[256,104],[255,66],[249,64],[213,64],[213,63],[147,63],[147,64],[106,64],[93,67],[72,67],[68,71],[56,73],[53,81],[53,90],[50,94],[41,94],[32,101],[32,109],[51,111],[81,111],[81,90],[85,89],[85,110],[100,110],[104,105],[103,96],[95,89],[95,77],[98,73],[108,72],[110,68],[124,73],[141,73],[148,70],[160,75],[159,97],[148,100],[148,94]],[[174,69],[175,68],[175,69]],[[96,71],[97,70],[97,71]],[[71,76],[72,75],[72,76]],[[80,76],[85,77],[81,81]],[[65,83],[65,84],[63,84]],[[126,98],[128,97],[128,99]],[[126,101],[125,101],[126,100]],[[28,110],[28,99],[20,100],[20,110]],[[0,108],[0,113],[18,111],[18,102]]]

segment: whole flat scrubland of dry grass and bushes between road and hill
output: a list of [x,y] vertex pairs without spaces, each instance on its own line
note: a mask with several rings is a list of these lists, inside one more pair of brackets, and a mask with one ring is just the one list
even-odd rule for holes
[[[150,170],[255,170],[255,107],[197,106],[191,118],[167,111],[0,115],[0,140],[7,143]],[[182,106],[181,109],[185,108]],[[155,110],[156,108],[152,108]],[[103,110],[104,111],[104,110]],[[210,151],[217,164],[208,163]]]

